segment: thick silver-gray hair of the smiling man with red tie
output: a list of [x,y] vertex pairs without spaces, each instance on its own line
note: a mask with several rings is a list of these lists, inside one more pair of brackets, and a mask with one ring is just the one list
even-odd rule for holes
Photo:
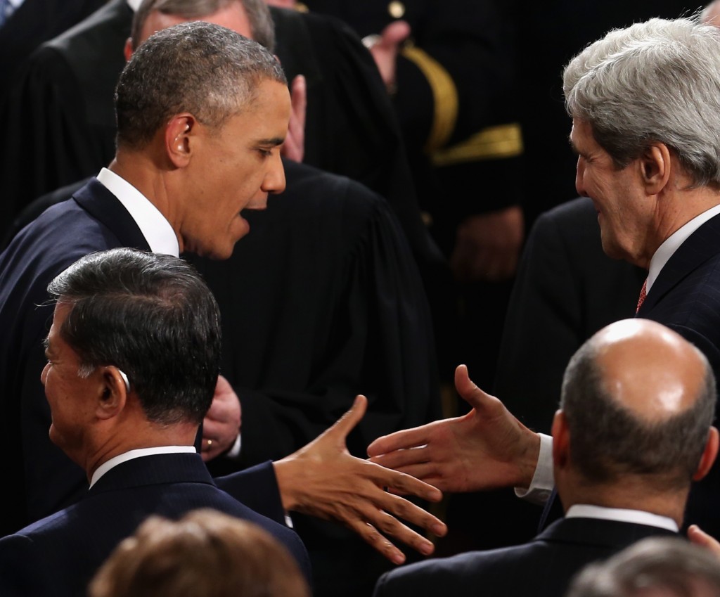
[[618,168],[665,143],[694,185],[720,184],[720,30],[650,19],[613,30],[570,60],[568,114],[590,124]]

